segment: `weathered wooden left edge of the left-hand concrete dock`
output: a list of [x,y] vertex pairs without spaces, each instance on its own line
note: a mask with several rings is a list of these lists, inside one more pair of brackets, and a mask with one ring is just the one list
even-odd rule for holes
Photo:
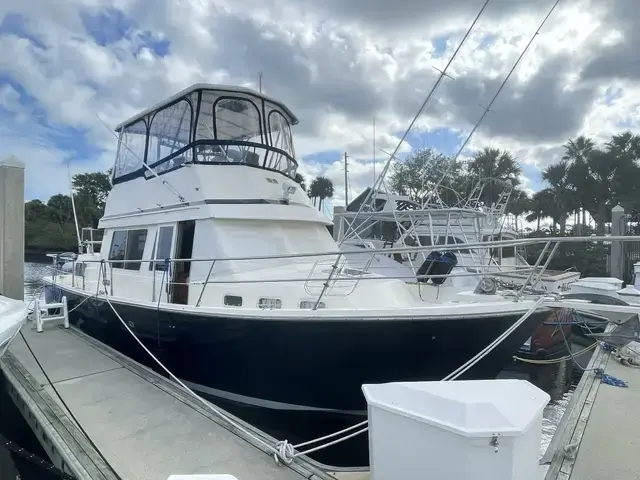
[[5,352],[0,367],[9,396],[56,467],[79,480],[119,480],[72,419],[11,352]]

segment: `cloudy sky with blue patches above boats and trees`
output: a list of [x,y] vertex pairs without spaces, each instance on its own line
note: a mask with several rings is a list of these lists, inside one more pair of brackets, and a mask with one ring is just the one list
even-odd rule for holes
[[[456,152],[555,0],[491,0],[401,155]],[[258,87],[300,118],[300,173],[344,202],[371,185],[484,0],[3,0],[0,159],[26,198],[106,170],[113,128],[193,83]],[[563,0],[463,151],[511,151],[524,187],[569,138],[640,123],[640,3]],[[374,150],[375,119],[375,150]],[[384,150],[384,151],[383,151]],[[375,156],[375,162],[374,162]]]

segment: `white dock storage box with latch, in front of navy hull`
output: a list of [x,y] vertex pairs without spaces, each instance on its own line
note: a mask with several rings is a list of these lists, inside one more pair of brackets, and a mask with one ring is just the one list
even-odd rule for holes
[[371,480],[539,480],[549,395],[524,380],[363,385]]

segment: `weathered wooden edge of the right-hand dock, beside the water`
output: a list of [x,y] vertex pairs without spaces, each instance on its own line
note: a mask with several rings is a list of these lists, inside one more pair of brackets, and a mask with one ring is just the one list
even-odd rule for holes
[[[609,357],[608,351],[601,346],[596,347],[596,351],[562,415],[556,433],[540,460],[541,465],[549,464],[545,480],[568,480],[571,476],[582,436],[601,384],[594,369],[605,370]],[[571,455],[567,455],[564,450],[567,445],[572,446]]]

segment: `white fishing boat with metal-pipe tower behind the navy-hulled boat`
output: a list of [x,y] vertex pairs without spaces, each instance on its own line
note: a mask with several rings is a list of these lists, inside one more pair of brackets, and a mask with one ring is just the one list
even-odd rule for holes
[[[396,245],[421,245],[438,250],[455,248],[457,263],[451,270],[452,275],[436,283],[427,283],[437,288],[441,296],[451,297],[473,289],[477,277],[468,275],[479,271],[499,279],[507,289],[517,290],[526,285],[542,292],[562,294],[570,291],[578,282],[580,272],[531,266],[521,246],[492,248],[491,242],[515,240],[520,235],[515,225],[507,221],[506,207],[512,190],[509,182],[497,182],[502,191],[494,204],[479,206],[483,188],[491,180],[479,181],[469,198],[454,207],[445,205],[437,195],[422,206],[407,195],[368,188],[344,212],[334,214],[336,240],[344,249],[360,247],[384,251]],[[367,198],[370,208],[358,214]],[[470,243],[476,247],[466,248]],[[369,268],[383,275],[414,281],[418,268],[426,261],[426,253],[423,252],[422,257],[417,253],[390,254],[388,259],[372,262]],[[520,346],[518,356],[548,359],[566,353],[567,343],[571,341],[572,318],[573,312],[569,309],[550,312],[546,321]]]

